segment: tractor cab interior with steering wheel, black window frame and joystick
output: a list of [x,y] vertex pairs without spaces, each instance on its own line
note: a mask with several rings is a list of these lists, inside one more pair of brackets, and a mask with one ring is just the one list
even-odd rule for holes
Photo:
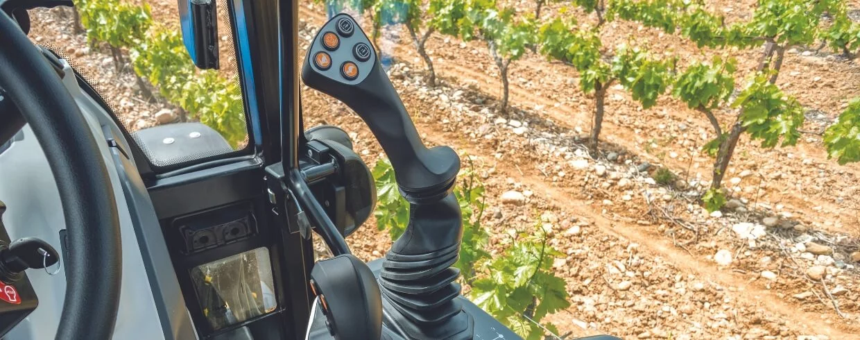
[[[71,1],[0,0],[0,337],[519,338],[460,294],[458,155],[422,143],[358,22],[335,15],[299,51],[296,1],[178,4],[194,65],[235,50],[243,133],[130,127],[93,75],[28,39],[28,10]],[[390,158],[411,222],[382,259],[350,254],[374,181],[346,132],[303,126],[301,83]]]

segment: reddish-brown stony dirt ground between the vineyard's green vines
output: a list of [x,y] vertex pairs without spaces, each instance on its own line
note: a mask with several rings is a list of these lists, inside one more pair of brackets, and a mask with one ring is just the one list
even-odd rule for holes
[[[148,3],[159,24],[177,24],[175,2]],[[747,18],[753,3],[721,0],[708,6],[733,21]],[[533,10],[532,2],[511,4]],[[560,6],[551,4],[544,15],[554,15]],[[144,100],[130,66],[115,70],[106,49],[69,31],[71,17],[58,9],[34,15],[31,37],[64,46],[75,65],[100,75],[95,82],[130,127],[154,126],[157,112],[174,109]],[[301,5],[299,15],[304,48],[325,16],[310,3]],[[594,20],[574,15],[580,22]],[[696,198],[709,184],[712,159],[698,149],[713,136],[708,122],[683,103],[664,96],[642,110],[624,90],[612,89],[603,154],[593,159],[581,143],[593,98],[578,90],[578,75],[568,66],[531,53],[514,62],[513,109],[502,113],[496,109],[501,82],[485,46],[433,35],[428,52],[441,84],[428,87],[408,34],[392,31],[402,40],[390,48],[396,60],[390,78],[422,137],[461,152],[487,187],[483,223],[493,231],[491,249],[501,249],[507,229],[527,230],[537,220],[552,226],[552,243],[567,254],[554,266],[568,282],[572,306],[544,321],[563,334],[860,339],[860,263],[852,258],[860,250],[860,165],[826,159],[818,134],[860,95],[857,61],[802,46],[787,53],[777,83],[807,110],[808,133],[795,147],[772,150],[742,139],[725,184],[735,200],[724,212],[709,214]],[[630,22],[610,23],[604,31],[605,46],[635,36],[632,43],[682,62],[715,53]],[[222,56],[229,55],[224,48],[229,44],[222,44]],[[746,75],[760,49],[728,54]],[[235,59],[225,60],[224,72],[235,74]],[[303,103],[306,126],[343,127],[368,164],[382,156],[347,107],[307,88]],[[718,117],[728,125],[734,114],[722,109]],[[659,167],[678,174],[679,181],[656,184],[651,174]],[[524,199],[502,201],[508,191]],[[360,257],[381,257],[390,240],[373,220],[366,225],[348,241]]]

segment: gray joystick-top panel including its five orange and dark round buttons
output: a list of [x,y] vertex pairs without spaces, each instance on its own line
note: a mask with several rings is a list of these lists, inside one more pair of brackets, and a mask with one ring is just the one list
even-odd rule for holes
[[376,51],[367,35],[346,14],[326,22],[309,50],[307,58],[314,71],[350,85],[361,83],[376,63]]

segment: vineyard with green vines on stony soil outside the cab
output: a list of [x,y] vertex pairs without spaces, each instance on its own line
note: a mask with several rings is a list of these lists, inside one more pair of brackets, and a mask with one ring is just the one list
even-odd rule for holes
[[[424,138],[461,152],[464,295],[513,331],[860,338],[860,3],[307,2],[301,48],[327,6],[365,20]],[[197,70],[175,7],[78,1],[31,36],[122,83],[132,129],[200,121],[241,147],[235,63]],[[390,164],[341,103],[303,105],[375,164],[375,219],[347,241],[383,256],[408,223]]]

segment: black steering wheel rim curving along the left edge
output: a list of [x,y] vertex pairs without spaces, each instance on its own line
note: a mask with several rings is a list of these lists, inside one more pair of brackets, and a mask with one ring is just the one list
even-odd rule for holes
[[0,46],[0,88],[45,151],[68,230],[68,275],[56,338],[108,339],[120,305],[121,251],[107,167],[57,72],[2,10]]

